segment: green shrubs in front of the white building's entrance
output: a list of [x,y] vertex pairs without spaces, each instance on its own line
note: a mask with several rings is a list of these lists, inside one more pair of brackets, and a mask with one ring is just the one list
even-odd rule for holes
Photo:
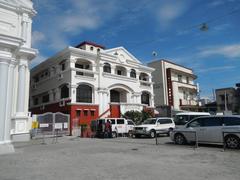
[[147,111],[127,111],[125,114],[122,115],[126,119],[133,120],[136,124],[141,124],[147,118],[151,118],[152,114]]

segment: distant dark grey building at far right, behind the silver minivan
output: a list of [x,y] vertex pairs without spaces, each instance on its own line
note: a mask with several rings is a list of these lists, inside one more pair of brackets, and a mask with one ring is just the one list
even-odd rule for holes
[[240,113],[240,84],[236,84],[236,88],[216,89],[217,111],[232,111]]

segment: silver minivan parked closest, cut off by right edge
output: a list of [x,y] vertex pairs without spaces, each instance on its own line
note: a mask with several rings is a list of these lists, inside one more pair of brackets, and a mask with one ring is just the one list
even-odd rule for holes
[[196,141],[195,133],[200,143],[223,144],[225,140],[228,148],[239,148],[240,116],[198,117],[184,127],[174,129],[170,136],[176,144],[185,144]]

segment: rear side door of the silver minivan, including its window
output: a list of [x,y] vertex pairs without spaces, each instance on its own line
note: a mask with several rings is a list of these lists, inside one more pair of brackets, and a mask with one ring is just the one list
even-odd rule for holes
[[221,117],[206,117],[203,118],[203,127],[200,131],[203,132],[203,142],[219,143],[222,142],[222,118]]

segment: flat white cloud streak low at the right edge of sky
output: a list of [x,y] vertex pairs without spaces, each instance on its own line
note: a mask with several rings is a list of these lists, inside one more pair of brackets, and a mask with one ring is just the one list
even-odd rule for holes
[[239,58],[240,44],[238,43],[238,44],[231,44],[231,45],[205,47],[200,50],[199,55],[201,57],[221,55],[227,58]]

